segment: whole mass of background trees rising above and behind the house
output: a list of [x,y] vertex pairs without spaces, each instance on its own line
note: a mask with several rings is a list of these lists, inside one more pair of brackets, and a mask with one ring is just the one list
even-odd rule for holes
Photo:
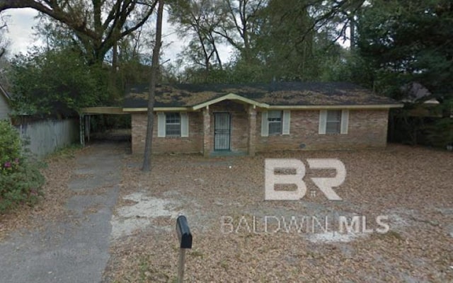
[[[157,3],[1,1],[0,11],[40,11],[38,31],[48,43],[11,62],[22,105],[49,112],[120,103],[127,83],[149,81],[153,66],[142,52],[156,42],[154,25],[144,27]],[[154,69],[158,82],[350,81],[396,99],[420,83],[445,117],[453,104],[452,1],[168,0],[166,7],[184,46],[181,65]]]

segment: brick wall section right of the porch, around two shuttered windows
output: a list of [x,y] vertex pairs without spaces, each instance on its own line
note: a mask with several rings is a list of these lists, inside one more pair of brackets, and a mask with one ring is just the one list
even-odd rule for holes
[[318,134],[319,110],[292,110],[289,135],[261,137],[256,123],[256,151],[287,149],[357,149],[386,145],[388,110],[350,110],[348,134]]

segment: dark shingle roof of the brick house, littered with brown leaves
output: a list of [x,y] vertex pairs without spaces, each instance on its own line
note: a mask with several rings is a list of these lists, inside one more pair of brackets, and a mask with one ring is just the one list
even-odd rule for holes
[[[132,86],[125,108],[146,108],[149,88]],[[234,93],[268,105],[397,105],[396,100],[377,96],[352,83],[275,82],[247,84],[176,84],[156,88],[155,107],[193,107]]]

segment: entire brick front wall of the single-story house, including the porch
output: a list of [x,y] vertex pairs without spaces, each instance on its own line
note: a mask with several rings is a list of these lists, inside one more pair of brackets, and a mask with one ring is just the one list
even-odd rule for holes
[[[214,112],[231,115],[231,151],[248,151],[248,105],[222,101],[210,105],[210,151],[214,146]],[[188,112],[189,137],[157,137],[154,116],[153,152],[202,153],[202,112]],[[348,134],[318,134],[318,110],[292,110],[290,134],[261,137],[261,114],[256,115],[256,151],[300,149],[355,149],[386,145],[388,110],[350,110]],[[146,113],[132,114],[132,152],[142,154],[146,135]]]

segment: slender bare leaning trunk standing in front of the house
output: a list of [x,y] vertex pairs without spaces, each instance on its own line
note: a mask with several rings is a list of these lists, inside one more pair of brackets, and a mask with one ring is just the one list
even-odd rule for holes
[[149,82],[149,98],[148,98],[148,125],[147,137],[144,143],[144,158],[142,171],[151,171],[151,146],[153,139],[154,125],[154,96],[156,94],[157,69],[159,68],[159,52],[162,44],[162,13],[164,11],[164,0],[159,0],[159,8],[157,9],[156,23],[156,43],[153,49],[153,57],[151,61],[151,80]]

